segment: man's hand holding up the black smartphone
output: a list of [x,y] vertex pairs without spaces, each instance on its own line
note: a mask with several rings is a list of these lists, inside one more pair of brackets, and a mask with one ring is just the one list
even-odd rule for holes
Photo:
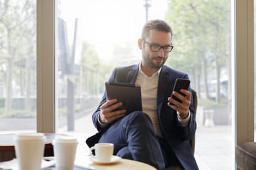
[[181,89],[181,93],[185,94],[186,96],[182,96],[178,92],[174,91],[173,94],[177,98],[181,100],[181,103],[174,100],[174,98],[169,97],[168,101],[171,103],[174,103],[174,105],[171,105],[168,103],[168,106],[173,108],[175,111],[177,111],[177,115],[179,119],[185,119],[188,117],[189,113],[189,106],[191,104],[191,93],[185,89]]

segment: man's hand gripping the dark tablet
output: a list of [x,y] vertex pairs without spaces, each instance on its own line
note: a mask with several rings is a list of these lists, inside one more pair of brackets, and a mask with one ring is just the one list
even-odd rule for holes
[[125,110],[114,111],[114,109],[122,106],[122,102],[117,103],[117,99],[107,100],[100,106],[100,123],[107,124],[124,117]]

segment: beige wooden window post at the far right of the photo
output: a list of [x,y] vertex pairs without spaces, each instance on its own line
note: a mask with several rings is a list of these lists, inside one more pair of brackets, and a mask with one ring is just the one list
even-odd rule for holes
[[235,145],[254,140],[254,2],[235,1]]

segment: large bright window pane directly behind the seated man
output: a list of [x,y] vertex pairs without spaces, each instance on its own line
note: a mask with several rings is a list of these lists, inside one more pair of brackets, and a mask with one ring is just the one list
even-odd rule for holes
[[230,1],[60,0],[57,6],[57,132],[82,143],[97,132],[92,113],[112,69],[139,63],[137,40],[145,21],[164,19],[174,31],[166,65],[188,73],[198,94],[199,169],[232,169]]

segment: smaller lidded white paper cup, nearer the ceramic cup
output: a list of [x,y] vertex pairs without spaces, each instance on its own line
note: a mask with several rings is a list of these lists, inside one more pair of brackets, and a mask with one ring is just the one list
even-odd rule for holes
[[74,137],[59,135],[53,140],[53,151],[56,169],[72,170],[78,141]]

